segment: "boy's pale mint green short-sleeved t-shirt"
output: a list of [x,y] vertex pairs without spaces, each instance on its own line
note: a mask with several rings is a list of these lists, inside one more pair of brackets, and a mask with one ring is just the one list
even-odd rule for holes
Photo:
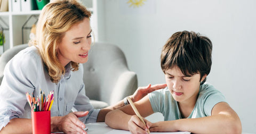
[[[165,121],[182,119],[178,103],[174,100],[167,87],[153,91],[148,94],[148,96],[153,111],[155,113],[162,113]],[[213,106],[219,102],[226,102],[223,94],[209,83],[204,83],[200,86],[194,110],[190,113],[188,118],[210,116]]]

